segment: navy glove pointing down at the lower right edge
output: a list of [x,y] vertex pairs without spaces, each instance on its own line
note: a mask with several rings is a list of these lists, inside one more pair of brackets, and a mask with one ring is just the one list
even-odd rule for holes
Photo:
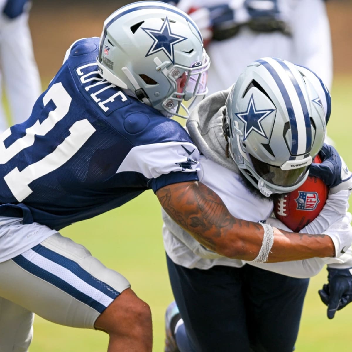
[[327,316],[334,318],[337,310],[347,306],[352,301],[352,268],[328,268],[328,284],[318,291],[324,304],[328,306]]

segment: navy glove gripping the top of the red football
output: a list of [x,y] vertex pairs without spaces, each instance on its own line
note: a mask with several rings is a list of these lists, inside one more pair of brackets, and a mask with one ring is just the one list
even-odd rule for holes
[[322,163],[310,165],[309,176],[321,178],[331,193],[352,189],[352,173],[348,171],[337,150],[324,143],[319,156]]

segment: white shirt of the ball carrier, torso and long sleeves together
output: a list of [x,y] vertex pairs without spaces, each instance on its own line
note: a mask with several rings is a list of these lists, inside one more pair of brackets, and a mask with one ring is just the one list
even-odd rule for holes
[[[199,173],[200,181],[220,196],[233,216],[254,222],[265,221],[265,219],[270,216],[273,208],[272,201],[251,193],[250,189],[241,181],[239,174],[207,159],[203,155],[200,157],[200,163],[202,164],[202,170]],[[346,203],[348,195],[346,192],[349,194],[348,191],[341,191],[331,196],[328,206],[322,212],[324,213],[322,219],[318,216],[316,221],[311,223],[319,227],[319,232],[351,231],[351,226],[343,229],[342,226],[339,225],[340,223],[342,224],[342,219],[350,219],[348,218],[348,213],[345,217],[343,215],[346,211],[346,204],[348,207],[348,203]],[[341,209],[338,209],[338,206],[334,205],[334,202],[340,203]],[[331,207],[335,208],[335,211],[329,209]],[[239,259],[226,258],[203,247],[191,237],[191,235],[178,226],[163,210],[162,214],[164,220],[163,239],[165,251],[174,263],[186,268],[206,270],[214,265],[226,265],[240,268],[245,264],[249,264],[278,274],[305,278],[318,274],[326,264],[341,269],[349,268],[352,265],[351,248],[339,258],[311,258],[279,263],[253,263]],[[321,225],[328,226],[327,222],[334,222],[332,219],[341,220],[336,221],[327,231],[323,230]],[[274,220],[278,221],[277,219]],[[276,222],[273,221],[270,221],[270,223],[272,223],[272,226],[290,231],[283,224],[276,224]],[[339,226],[341,228],[339,228]],[[302,232],[317,233],[311,230],[312,229],[304,228]]]

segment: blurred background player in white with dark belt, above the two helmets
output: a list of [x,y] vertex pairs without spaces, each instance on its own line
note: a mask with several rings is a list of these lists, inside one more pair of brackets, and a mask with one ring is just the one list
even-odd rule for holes
[[278,57],[312,69],[331,89],[329,21],[323,0],[179,0],[199,26],[212,62],[209,93],[227,89],[249,62]]

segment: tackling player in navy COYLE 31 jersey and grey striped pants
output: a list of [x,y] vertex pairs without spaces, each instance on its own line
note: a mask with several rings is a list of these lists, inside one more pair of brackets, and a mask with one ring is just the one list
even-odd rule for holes
[[147,304],[58,232],[147,189],[194,238],[228,257],[328,257],[351,243],[241,221],[198,182],[199,151],[168,117],[187,116],[183,101],[190,107],[206,93],[208,67],[193,20],[171,5],[135,2],[106,19],[100,39],[73,43],[29,119],[0,135],[0,297],[13,312],[2,350],[27,350],[33,313],[107,332],[108,351],[152,350]]

